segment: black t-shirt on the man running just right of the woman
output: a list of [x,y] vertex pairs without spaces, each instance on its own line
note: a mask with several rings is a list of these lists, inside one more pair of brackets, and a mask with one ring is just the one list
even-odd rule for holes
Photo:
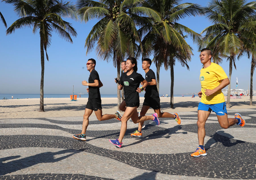
[[[152,69],[149,69],[149,71],[146,73],[145,75],[145,79],[147,82],[151,82],[152,79],[156,79],[155,73]],[[159,93],[157,90],[156,85],[152,85],[152,86],[147,86],[146,87],[146,92],[144,95],[144,98],[155,98],[155,97],[159,97]]]

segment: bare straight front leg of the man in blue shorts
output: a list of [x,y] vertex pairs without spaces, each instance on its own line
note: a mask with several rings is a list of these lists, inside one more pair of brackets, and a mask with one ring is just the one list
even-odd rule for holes
[[205,122],[207,118],[210,115],[210,111],[203,111],[203,110],[198,110],[197,111],[197,136],[198,136],[198,141],[199,145],[204,145],[204,140],[205,140]]

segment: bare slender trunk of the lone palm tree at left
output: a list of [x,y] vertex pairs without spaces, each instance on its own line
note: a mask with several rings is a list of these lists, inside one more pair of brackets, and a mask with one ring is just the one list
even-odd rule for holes
[[44,111],[44,44],[40,37],[40,52],[41,52],[41,82],[40,82],[40,110]]

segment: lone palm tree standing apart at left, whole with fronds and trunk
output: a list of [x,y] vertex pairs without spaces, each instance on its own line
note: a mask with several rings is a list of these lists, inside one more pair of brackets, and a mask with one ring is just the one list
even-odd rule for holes
[[21,17],[7,30],[6,34],[13,33],[18,28],[33,27],[35,34],[39,30],[41,53],[41,83],[40,83],[40,111],[44,111],[44,51],[49,61],[47,47],[51,44],[52,31],[68,42],[73,43],[71,35],[77,36],[71,23],[61,17],[76,18],[75,6],[70,2],[58,0],[3,0],[14,6],[14,11]]

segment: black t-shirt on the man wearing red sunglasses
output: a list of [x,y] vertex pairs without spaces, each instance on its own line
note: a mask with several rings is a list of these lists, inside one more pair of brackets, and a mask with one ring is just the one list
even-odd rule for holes
[[[98,72],[93,69],[90,73],[88,83],[94,83],[94,80],[97,79],[100,82],[100,76]],[[89,86],[89,97],[88,99],[100,98],[100,88]]]

